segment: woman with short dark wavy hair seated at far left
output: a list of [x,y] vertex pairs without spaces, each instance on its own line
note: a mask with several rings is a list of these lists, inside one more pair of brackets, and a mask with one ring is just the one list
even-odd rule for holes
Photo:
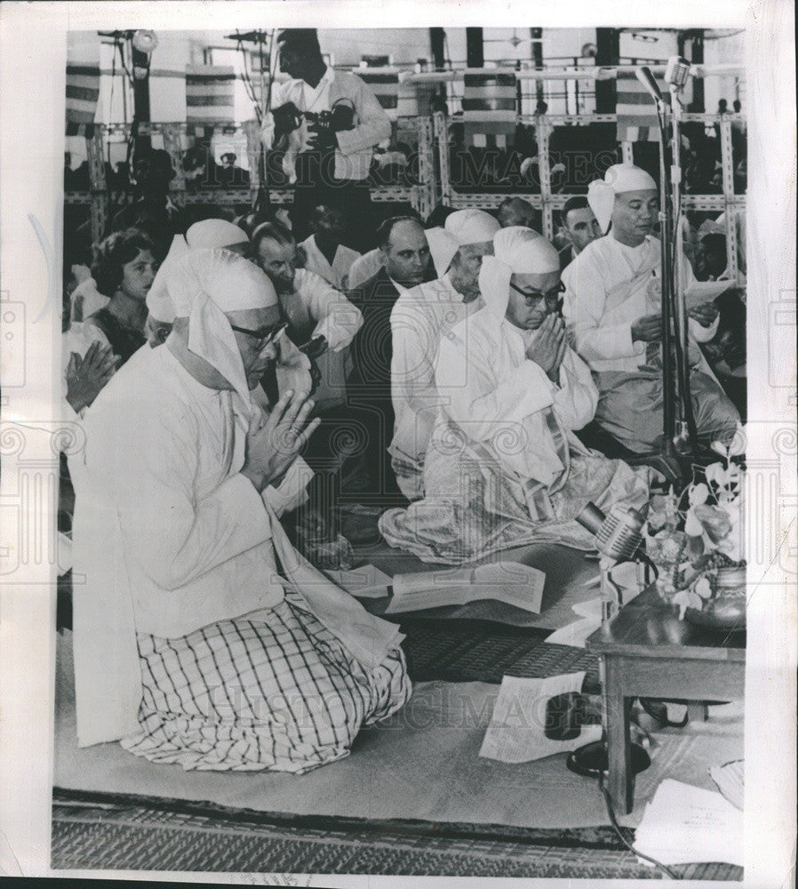
[[92,277],[108,305],[85,319],[84,335],[110,346],[124,364],[147,341],[147,294],[156,276],[152,241],[138,228],[109,235],[97,248]]

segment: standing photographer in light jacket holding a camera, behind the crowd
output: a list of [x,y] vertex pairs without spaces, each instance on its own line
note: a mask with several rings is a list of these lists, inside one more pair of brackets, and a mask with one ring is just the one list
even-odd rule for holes
[[275,85],[261,137],[266,148],[285,152],[294,234],[299,240],[310,234],[310,213],[319,204],[346,206],[360,223],[350,245],[367,250],[373,246],[371,155],[390,137],[390,121],[359,77],[324,62],[314,28],[283,30],[277,41],[280,69],[291,80]]

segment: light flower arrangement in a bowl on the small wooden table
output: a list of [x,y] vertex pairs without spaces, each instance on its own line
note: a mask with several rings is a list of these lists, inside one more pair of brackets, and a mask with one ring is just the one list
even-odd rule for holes
[[688,608],[710,610],[719,595],[742,597],[745,608],[742,452],[736,442],[712,449],[722,461],[695,469],[681,494],[655,494],[649,504],[646,552],[680,620]]

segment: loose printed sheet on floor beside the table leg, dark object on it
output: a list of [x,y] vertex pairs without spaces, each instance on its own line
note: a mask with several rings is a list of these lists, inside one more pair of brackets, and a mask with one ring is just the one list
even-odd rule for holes
[[504,677],[479,755],[502,763],[528,763],[598,741],[600,725],[583,726],[572,741],[552,741],[544,734],[548,701],[558,694],[580,692],[584,680],[584,671],[548,679]]

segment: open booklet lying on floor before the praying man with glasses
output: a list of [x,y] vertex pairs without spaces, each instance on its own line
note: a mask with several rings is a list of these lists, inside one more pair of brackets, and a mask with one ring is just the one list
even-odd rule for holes
[[447,571],[395,574],[392,583],[394,596],[387,605],[386,613],[496,599],[539,614],[545,583],[545,573],[520,562],[490,562]]

